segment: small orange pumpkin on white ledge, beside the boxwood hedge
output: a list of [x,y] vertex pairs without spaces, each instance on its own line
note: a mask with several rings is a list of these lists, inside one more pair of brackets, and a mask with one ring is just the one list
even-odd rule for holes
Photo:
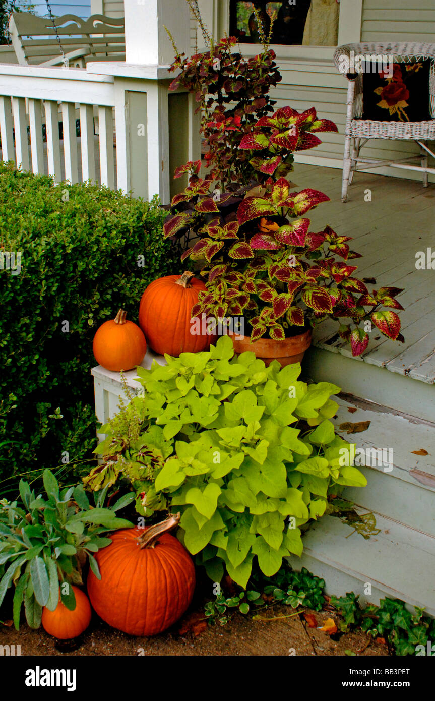
[[94,337],[95,360],[106,370],[120,372],[140,365],[146,353],[146,340],[137,324],[127,321],[123,309],[113,320],[105,321]]

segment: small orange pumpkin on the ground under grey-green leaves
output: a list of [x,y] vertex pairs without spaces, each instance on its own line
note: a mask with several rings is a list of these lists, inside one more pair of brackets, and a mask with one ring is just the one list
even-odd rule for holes
[[43,629],[49,635],[53,635],[60,640],[69,640],[81,635],[90,624],[92,615],[86,594],[83,594],[82,590],[74,587],[74,585],[71,585],[71,587],[76,596],[76,608],[74,608],[74,611],[69,611],[69,608],[64,606],[60,600],[54,611],[50,611],[46,606],[42,610]]

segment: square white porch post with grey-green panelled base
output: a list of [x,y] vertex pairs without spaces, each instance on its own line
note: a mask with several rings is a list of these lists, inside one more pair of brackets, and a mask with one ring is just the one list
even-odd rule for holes
[[[191,15],[185,0],[124,0],[124,10],[125,62],[91,62],[86,68],[114,76],[118,188],[147,199],[158,194],[167,204],[181,185],[174,183],[174,168],[184,161],[174,158],[200,158],[196,104],[184,100],[174,111],[168,92],[174,48],[165,27],[179,52],[190,55]],[[171,154],[175,130],[177,154],[175,147]]]

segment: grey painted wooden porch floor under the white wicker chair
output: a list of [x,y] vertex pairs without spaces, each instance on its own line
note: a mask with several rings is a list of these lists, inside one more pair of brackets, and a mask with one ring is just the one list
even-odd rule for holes
[[[358,278],[375,278],[375,289],[404,288],[398,299],[405,308],[400,312],[405,343],[390,341],[374,328],[362,360],[434,384],[435,270],[417,270],[415,262],[418,251],[431,247],[435,252],[435,184],[423,188],[419,181],[360,172],[349,201],[342,203],[341,175],[338,169],[296,163],[290,177],[298,189],[310,187],[329,196],[329,202],[309,213],[310,229],[322,231],[329,224],[339,235],[354,238],[350,247],[363,254],[354,261]],[[364,201],[368,189],[371,202]],[[315,346],[352,358],[336,329],[331,320],[322,322],[315,329]]]

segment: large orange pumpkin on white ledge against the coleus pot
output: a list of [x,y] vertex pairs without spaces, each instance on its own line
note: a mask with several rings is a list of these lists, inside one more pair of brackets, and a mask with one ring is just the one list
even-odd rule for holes
[[198,292],[205,290],[193,273],[167,275],[154,280],[142,295],[139,306],[139,326],[153,351],[164,355],[207,351],[211,336],[191,333],[191,311],[198,301]]

